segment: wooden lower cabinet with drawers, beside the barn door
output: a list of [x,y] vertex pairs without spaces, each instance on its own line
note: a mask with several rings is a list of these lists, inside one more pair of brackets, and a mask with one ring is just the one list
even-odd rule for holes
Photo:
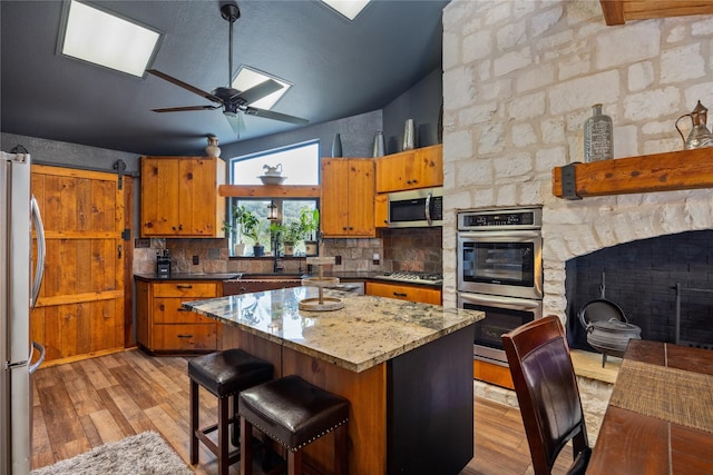
[[136,283],[136,339],[149,353],[209,353],[217,348],[218,324],[180,304],[218,297],[219,281]]

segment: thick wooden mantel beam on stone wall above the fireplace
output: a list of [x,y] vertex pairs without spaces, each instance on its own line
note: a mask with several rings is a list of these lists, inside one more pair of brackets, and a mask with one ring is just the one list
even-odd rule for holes
[[[713,188],[713,148],[574,164],[573,167],[574,191],[579,198]],[[553,195],[567,198],[563,191],[563,167],[553,170]]]

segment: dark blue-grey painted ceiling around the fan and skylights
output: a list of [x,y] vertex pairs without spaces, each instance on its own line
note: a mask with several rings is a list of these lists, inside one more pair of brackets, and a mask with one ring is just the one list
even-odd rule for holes
[[[199,89],[227,82],[228,22],[221,1],[105,1],[164,33],[153,68]],[[381,109],[441,63],[448,0],[370,3],[353,22],[316,0],[238,1],[233,66],[294,86],[273,107],[310,125]],[[61,1],[0,1],[0,130],[148,155],[199,152],[205,136],[238,140],[221,109],[150,75],[136,78],[57,53]],[[294,129],[244,117],[240,139]]]

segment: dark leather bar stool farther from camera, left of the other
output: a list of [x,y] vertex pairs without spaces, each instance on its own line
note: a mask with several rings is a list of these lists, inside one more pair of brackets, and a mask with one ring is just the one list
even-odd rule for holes
[[[241,449],[229,452],[228,427],[233,424],[233,443],[237,445],[237,399],[241,390],[272,379],[272,364],[256,358],[242,349],[226,349],[209,355],[197,356],[188,362],[188,377],[191,378],[191,464],[198,463],[198,441],[213,452],[218,458],[218,474],[227,475],[228,466],[241,457],[241,449],[251,444],[243,443]],[[198,390],[203,386],[218,398],[218,422],[215,425],[198,427]],[[229,414],[228,402],[233,397],[233,416]],[[208,434],[218,432],[217,445],[208,438]],[[244,438],[252,441],[252,437]]]

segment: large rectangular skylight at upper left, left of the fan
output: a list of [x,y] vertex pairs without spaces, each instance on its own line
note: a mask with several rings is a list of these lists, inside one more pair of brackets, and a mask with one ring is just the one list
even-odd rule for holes
[[68,10],[60,38],[62,55],[144,76],[160,33],[76,0]]

